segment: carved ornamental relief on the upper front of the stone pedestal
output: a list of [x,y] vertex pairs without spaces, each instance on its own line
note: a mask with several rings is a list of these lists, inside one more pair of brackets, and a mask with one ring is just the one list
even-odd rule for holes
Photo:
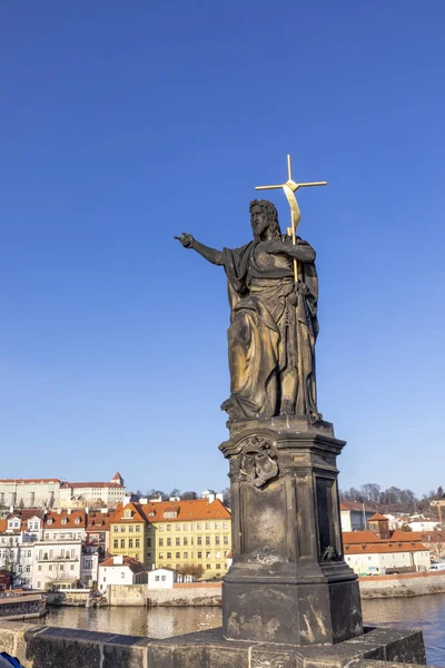
[[277,455],[271,440],[253,435],[244,439],[239,448],[241,478],[256,488],[261,488],[278,475]]

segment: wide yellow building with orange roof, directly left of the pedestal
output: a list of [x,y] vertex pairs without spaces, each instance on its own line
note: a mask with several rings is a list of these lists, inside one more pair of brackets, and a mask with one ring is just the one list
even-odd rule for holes
[[[231,517],[221,501],[210,497],[195,501],[151,501],[141,507],[148,520],[147,569],[172,568],[195,576],[221,577],[231,549]],[[196,571],[198,567],[198,572]],[[201,567],[201,568],[199,568]]]

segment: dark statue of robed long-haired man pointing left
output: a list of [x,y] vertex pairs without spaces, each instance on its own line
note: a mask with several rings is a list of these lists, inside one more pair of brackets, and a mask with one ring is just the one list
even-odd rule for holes
[[281,234],[270,202],[251,202],[250,219],[254,240],[240,248],[220,252],[187,233],[175,237],[226,271],[231,394],[221,409],[230,421],[299,415],[317,422],[315,250],[295,227],[294,237]]

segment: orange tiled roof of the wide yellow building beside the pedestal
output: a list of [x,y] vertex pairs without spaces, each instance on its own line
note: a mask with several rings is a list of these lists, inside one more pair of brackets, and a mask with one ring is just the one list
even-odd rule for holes
[[[207,499],[189,501],[154,501],[140,507],[149,522],[165,521],[192,521],[192,520],[229,520],[230,511],[225,504],[215,499],[211,503]],[[164,517],[165,512],[176,512],[176,518]]]

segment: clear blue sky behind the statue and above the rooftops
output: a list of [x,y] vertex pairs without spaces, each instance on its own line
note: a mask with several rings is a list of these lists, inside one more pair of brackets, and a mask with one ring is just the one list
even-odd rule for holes
[[[228,484],[221,267],[301,190],[340,487],[444,484],[445,3],[0,8],[0,477]],[[281,226],[288,207],[270,194]]]

